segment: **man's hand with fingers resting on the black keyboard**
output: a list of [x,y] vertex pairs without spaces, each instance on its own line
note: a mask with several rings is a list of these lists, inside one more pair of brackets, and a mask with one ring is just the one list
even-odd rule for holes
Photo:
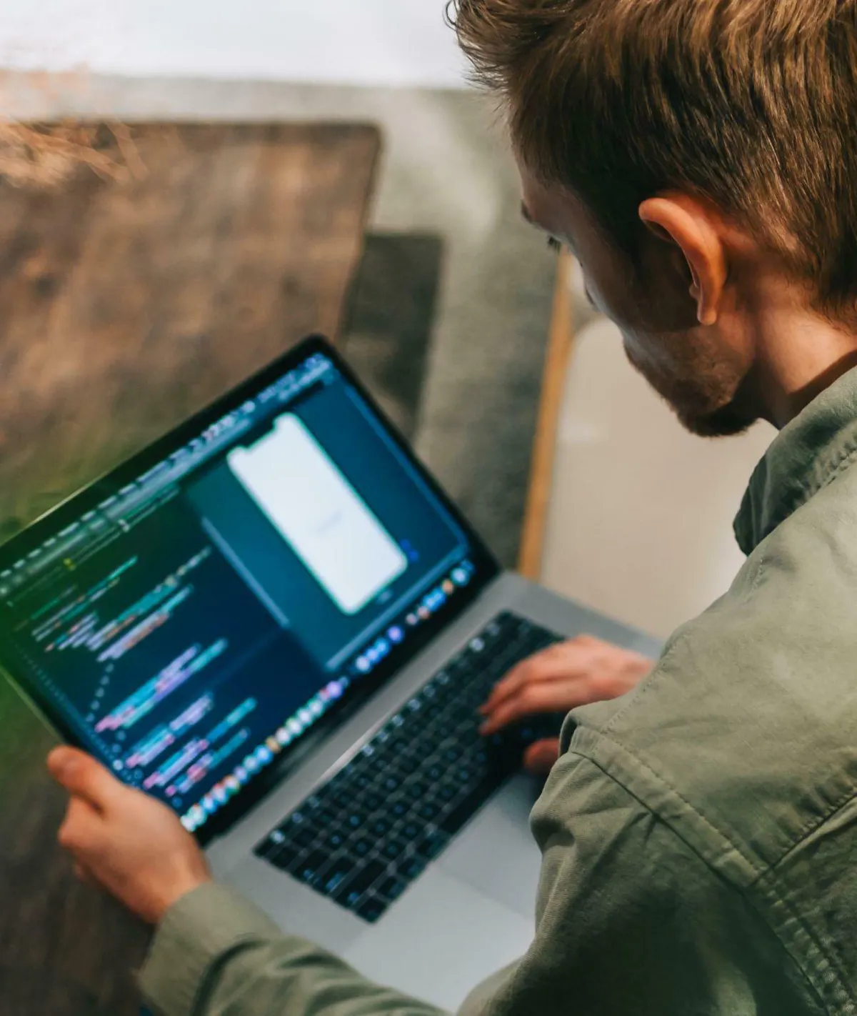
[[[618,698],[652,670],[651,659],[589,635],[558,642],[523,660],[499,682],[481,707],[483,735],[548,712]],[[557,740],[538,741],[524,756],[531,772],[546,773],[559,755]]]

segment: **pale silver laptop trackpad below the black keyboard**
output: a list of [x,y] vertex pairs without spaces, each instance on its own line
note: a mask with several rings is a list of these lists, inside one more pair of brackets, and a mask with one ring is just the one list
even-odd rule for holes
[[379,983],[455,1011],[480,980],[523,956],[534,934],[532,918],[432,867],[344,959]]

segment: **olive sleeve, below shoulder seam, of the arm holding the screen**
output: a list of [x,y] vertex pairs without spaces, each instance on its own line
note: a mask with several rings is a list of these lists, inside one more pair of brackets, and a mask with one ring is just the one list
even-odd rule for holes
[[[588,758],[536,806],[535,941],[460,1016],[791,1016],[821,1012],[753,907]],[[283,937],[219,886],[167,915],[142,973],[166,1016],[438,1016]]]

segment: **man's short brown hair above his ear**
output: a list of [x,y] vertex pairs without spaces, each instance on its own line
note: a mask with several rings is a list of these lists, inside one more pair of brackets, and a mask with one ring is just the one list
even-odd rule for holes
[[528,168],[620,246],[640,201],[695,193],[853,318],[857,0],[453,0],[449,16]]

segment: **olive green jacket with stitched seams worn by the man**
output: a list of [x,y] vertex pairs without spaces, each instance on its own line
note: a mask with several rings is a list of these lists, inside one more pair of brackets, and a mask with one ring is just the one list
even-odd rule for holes
[[[857,370],[777,437],[729,592],[575,711],[532,815],[537,934],[467,1016],[791,1016],[857,998]],[[168,1016],[427,1016],[228,890],[181,900],[141,982]]]

